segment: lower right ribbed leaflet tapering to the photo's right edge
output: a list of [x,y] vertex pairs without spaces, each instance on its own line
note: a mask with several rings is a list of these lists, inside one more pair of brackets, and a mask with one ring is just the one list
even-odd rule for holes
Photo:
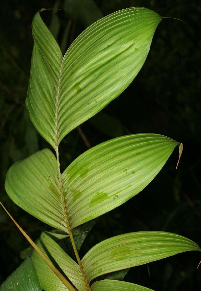
[[201,250],[192,240],[166,232],[125,233],[96,244],[82,259],[89,281],[117,270],[143,265],[189,250]]

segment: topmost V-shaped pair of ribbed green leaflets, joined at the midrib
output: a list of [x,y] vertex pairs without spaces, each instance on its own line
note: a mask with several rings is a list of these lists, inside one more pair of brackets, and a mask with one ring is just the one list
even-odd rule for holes
[[26,105],[36,129],[54,149],[131,83],[161,19],[146,8],[117,11],[84,30],[62,57],[40,13],[35,14]]

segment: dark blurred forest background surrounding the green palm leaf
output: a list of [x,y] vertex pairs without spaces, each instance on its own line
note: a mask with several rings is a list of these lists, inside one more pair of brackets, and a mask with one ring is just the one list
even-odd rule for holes
[[[68,5],[64,5],[68,2]],[[79,3],[80,2],[80,3]],[[201,244],[200,170],[200,1],[2,1],[0,28],[0,147],[1,201],[35,240],[51,229],[16,206],[5,193],[8,168],[33,152],[50,146],[37,134],[25,108],[33,46],[31,21],[40,8],[48,11],[44,21],[65,50],[84,28],[116,10],[143,6],[161,16],[148,58],[132,84],[116,100],[80,129],[91,146],[129,133],[158,133],[184,145],[176,170],[175,150],[157,177],[136,197],[100,217],[81,249],[83,255],[95,243],[113,235],[163,230],[184,235]],[[89,5],[88,5],[89,4]],[[58,18],[57,18],[58,16]],[[69,31],[67,30],[67,26]],[[66,41],[65,41],[66,36]],[[104,121],[104,122],[103,122]],[[74,129],[60,146],[61,167],[65,169],[87,150],[86,140]],[[20,251],[28,242],[0,209],[0,283],[22,262]],[[187,252],[148,265],[132,268],[126,281],[159,290],[198,290],[201,255]]]

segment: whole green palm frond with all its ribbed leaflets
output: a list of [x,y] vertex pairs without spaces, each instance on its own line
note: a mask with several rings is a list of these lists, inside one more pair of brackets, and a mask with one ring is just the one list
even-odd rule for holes
[[[8,170],[5,189],[17,205],[62,234],[43,232],[36,245],[27,237],[35,248],[31,259],[27,258],[15,278],[8,278],[0,290],[11,286],[12,290],[34,291],[151,290],[120,280],[91,281],[200,250],[199,246],[174,233],[124,233],[96,244],[81,260],[73,231],[138,194],[177,145],[181,155],[182,144],[157,134],[121,136],[86,151],[63,173],[59,144],[132,82],[147,58],[162,17],[146,8],[117,11],[85,29],[62,56],[40,12],[32,23],[34,47],[26,106],[56,157],[44,149],[15,163]],[[70,239],[77,262],[55,241],[64,237]]]

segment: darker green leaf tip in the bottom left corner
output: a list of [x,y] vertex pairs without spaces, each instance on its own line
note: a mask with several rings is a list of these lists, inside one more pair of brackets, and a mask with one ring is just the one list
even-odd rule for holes
[[34,264],[29,257],[0,286],[0,291],[25,290],[41,291]]

